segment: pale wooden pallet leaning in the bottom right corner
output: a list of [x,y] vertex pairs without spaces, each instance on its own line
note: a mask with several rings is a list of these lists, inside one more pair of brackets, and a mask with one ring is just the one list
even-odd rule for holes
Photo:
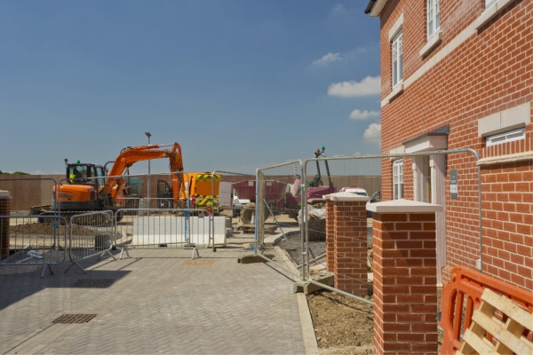
[[[500,312],[507,317],[505,323],[495,317]],[[456,354],[533,354],[533,343],[522,335],[524,329],[533,330],[533,314],[486,288]]]

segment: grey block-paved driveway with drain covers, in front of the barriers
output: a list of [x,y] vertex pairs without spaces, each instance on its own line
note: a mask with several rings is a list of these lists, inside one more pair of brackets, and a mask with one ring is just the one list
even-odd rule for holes
[[[0,275],[0,353],[305,353],[292,280],[268,264],[238,264],[241,254],[200,249],[190,263],[191,250],[136,249],[84,261],[87,274],[63,273],[67,263],[44,279],[41,268]],[[74,287],[87,279],[113,283]],[[63,314],[96,317],[52,323]]]

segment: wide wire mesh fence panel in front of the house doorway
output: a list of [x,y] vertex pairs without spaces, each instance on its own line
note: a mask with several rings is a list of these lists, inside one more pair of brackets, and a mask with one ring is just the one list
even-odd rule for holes
[[[336,193],[342,190],[359,193],[356,187],[364,187],[350,183],[349,185],[335,185],[331,181],[366,181],[368,178],[383,177],[381,189],[378,193],[379,200],[390,201],[394,199],[408,199],[425,201],[445,206],[444,212],[437,213],[437,268],[446,270],[458,265],[473,269],[480,269],[482,264],[481,241],[481,179],[480,169],[475,162],[479,155],[472,149],[455,149],[449,151],[429,151],[412,154],[384,154],[354,157],[332,157],[307,160],[304,164],[304,194],[307,195],[303,202],[305,209],[322,208],[320,197],[327,193]],[[321,174],[318,163],[329,163],[331,179]],[[452,166],[454,169],[450,169]],[[323,168],[322,168],[323,169]],[[323,173],[323,170],[322,170]],[[322,180],[322,181],[320,181]],[[311,184],[309,184],[311,182]],[[318,182],[318,184],[315,184]],[[366,190],[366,188],[365,188]],[[369,197],[374,191],[366,192]],[[366,223],[364,221],[351,221],[351,224],[368,227],[369,259],[371,260],[372,234],[370,212]],[[308,238],[321,233],[314,225],[313,219],[306,221],[306,235]],[[342,236],[342,235],[341,235]],[[312,238],[309,239],[311,241]],[[309,242],[309,241],[304,241]],[[447,257],[451,253],[452,257]],[[343,257],[343,256],[341,256]],[[344,256],[349,257],[349,256]],[[447,264],[448,263],[448,264]],[[452,263],[452,264],[449,264]],[[316,263],[315,263],[316,264]],[[369,262],[369,266],[371,262]],[[314,263],[309,260],[306,267],[313,269]],[[312,280],[312,270],[307,272]],[[350,272],[342,275],[351,278]],[[442,273],[437,275],[438,282],[442,280]],[[360,280],[368,282],[371,288],[371,278]],[[322,285],[327,288],[327,285]]]

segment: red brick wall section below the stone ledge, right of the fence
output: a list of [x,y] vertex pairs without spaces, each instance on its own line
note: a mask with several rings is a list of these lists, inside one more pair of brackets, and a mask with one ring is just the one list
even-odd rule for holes
[[484,269],[533,289],[533,166],[483,167],[481,181]]

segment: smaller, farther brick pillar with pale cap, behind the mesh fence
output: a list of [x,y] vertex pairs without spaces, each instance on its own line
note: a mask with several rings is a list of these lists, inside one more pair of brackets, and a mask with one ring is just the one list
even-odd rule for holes
[[332,193],[324,198],[329,255],[333,243],[333,262],[329,257],[326,264],[328,267],[333,264],[335,287],[355,296],[367,296],[366,202],[369,198],[354,193]]

